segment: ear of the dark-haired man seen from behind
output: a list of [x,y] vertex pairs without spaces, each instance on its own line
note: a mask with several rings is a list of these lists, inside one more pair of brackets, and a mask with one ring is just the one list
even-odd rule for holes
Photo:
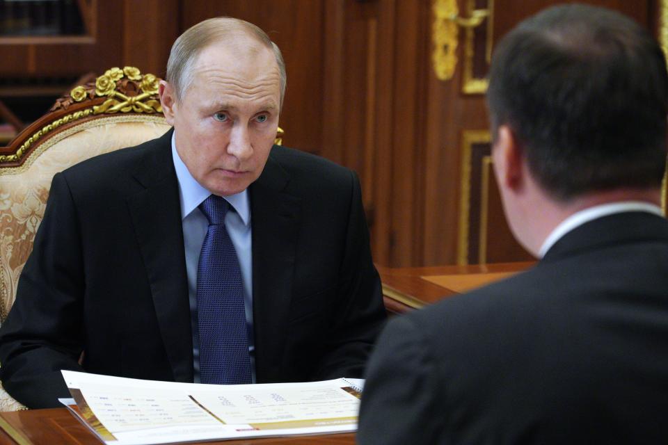
[[492,159],[499,186],[518,191],[524,180],[523,152],[515,133],[507,125],[498,128]]

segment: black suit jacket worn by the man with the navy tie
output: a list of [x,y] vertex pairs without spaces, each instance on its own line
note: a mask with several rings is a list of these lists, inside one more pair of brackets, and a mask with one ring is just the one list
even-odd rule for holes
[[[57,406],[61,369],[193,381],[171,134],[54,177],[0,329],[18,401]],[[356,175],[273,147],[249,191],[257,382],[361,377],[385,313]]]

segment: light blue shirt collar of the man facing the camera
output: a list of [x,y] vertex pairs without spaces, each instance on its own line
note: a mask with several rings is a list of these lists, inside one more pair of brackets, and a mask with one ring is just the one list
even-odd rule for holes
[[[172,134],[172,160],[176,170],[176,179],[179,182],[179,199],[181,202],[181,219],[184,220],[193,210],[195,210],[202,201],[207,199],[211,192],[202,187],[198,181],[188,171],[188,168],[181,160],[176,151],[174,132]],[[248,189],[235,193],[234,195],[223,196],[237,211],[244,225],[250,224],[250,203],[248,202]]]

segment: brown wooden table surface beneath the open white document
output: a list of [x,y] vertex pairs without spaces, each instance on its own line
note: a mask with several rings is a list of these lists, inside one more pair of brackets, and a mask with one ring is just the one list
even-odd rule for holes
[[[67,408],[0,412],[0,428],[0,445],[102,444],[92,432],[88,431],[77,419],[74,419]],[[355,435],[352,433],[202,442],[206,445],[348,445],[354,443]]]

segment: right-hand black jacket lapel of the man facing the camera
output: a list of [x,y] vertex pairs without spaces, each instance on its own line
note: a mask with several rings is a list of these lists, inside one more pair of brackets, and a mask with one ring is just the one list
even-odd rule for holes
[[285,187],[289,175],[271,156],[251,184],[253,327],[257,381],[280,373],[292,297],[301,200]]

